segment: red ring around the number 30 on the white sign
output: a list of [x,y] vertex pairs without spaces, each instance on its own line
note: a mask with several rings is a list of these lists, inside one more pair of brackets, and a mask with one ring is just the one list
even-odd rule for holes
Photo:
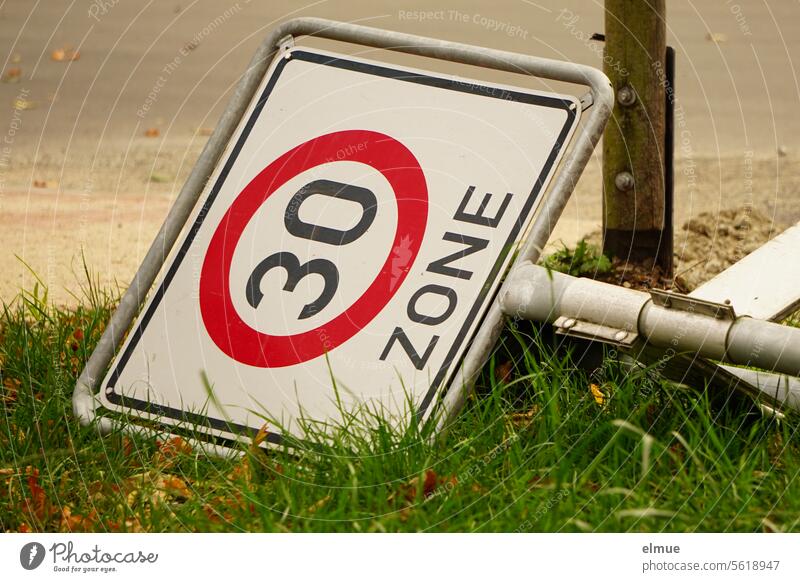
[[[295,335],[269,335],[239,317],[230,293],[233,253],[264,201],[301,172],[335,161],[360,162],[389,182],[397,200],[392,251],[378,276],[349,308],[328,323]],[[260,368],[292,366],[353,337],[380,313],[405,279],[422,244],[428,188],[419,162],[394,138],[366,130],[321,135],[289,150],[245,186],[211,237],[200,274],[200,312],[214,343],[234,360]]]

